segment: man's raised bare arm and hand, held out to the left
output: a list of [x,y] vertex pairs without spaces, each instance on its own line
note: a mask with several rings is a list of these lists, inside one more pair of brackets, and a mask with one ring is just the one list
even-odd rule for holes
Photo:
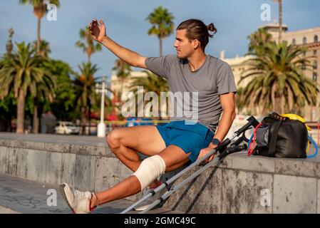
[[131,51],[128,48],[120,46],[118,43],[115,43],[115,41],[107,36],[103,21],[99,20],[99,23],[95,19],[91,22],[91,24],[89,24],[91,34],[96,41],[102,43],[103,46],[113,52],[115,56],[118,56],[118,58],[130,64],[131,66],[146,68],[145,57],[140,56],[138,53]]

